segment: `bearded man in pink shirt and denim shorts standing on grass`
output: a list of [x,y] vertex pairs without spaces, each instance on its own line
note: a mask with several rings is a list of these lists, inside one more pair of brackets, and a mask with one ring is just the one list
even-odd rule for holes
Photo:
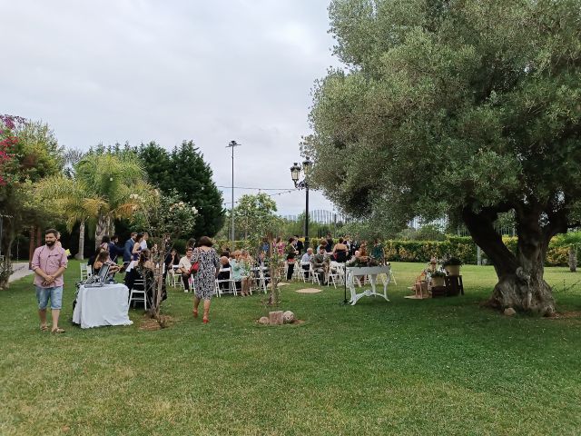
[[54,229],[48,229],[44,232],[44,245],[34,250],[32,270],[34,271],[40,330],[43,332],[48,330],[46,306],[50,299],[53,316],[52,332],[64,333],[63,329],[58,328],[58,316],[63,304],[63,273],[66,269],[67,259],[63,247],[56,243],[57,235],[58,232]]

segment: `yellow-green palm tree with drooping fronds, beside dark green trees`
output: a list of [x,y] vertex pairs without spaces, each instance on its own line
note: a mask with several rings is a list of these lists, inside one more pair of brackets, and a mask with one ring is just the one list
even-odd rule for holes
[[94,232],[95,248],[103,235],[114,233],[114,220],[129,218],[136,207],[132,193],[151,193],[133,154],[87,154],[74,165],[73,178],[64,175],[44,179],[37,193],[51,199],[71,230],[80,223],[79,253],[84,256],[84,227]]

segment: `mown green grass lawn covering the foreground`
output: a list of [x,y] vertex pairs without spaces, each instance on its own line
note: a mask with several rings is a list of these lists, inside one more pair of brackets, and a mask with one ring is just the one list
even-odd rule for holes
[[393,263],[391,302],[285,286],[305,322],[279,327],[254,322],[256,294],[212,300],[203,325],[171,290],[175,322],[152,332],[134,309],[129,327],[72,326],[71,262],[61,335],[39,331],[25,278],[0,292],[0,434],[581,434],[581,274],[546,274],[576,313],[507,318],[478,306],[491,267],[463,267],[463,297],[404,299],[422,267]]

